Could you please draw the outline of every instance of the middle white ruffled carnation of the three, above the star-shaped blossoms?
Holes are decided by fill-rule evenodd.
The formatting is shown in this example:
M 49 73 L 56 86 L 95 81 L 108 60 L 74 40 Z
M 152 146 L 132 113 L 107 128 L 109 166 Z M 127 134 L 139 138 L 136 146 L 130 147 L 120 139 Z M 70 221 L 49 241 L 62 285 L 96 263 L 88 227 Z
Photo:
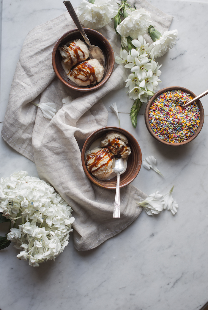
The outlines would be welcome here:
M 122 37 L 136 39 L 138 35 L 144 35 L 151 24 L 150 13 L 144 8 L 138 10 L 126 10 L 128 16 L 116 27 L 116 31 Z

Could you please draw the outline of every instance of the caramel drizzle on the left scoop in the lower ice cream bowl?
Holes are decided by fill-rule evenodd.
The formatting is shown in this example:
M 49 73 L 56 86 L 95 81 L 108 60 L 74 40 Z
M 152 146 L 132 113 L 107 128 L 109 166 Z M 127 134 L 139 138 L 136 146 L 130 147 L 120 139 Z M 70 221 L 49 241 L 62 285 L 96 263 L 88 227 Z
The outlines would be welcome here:
M 103 163 L 102 165 L 99 165 L 100 162 L 103 160 L 104 156 L 103 153 L 105 152 L 104 156 L 108 156 L 109 159 L 107 162 Z M 108 164 L 111 162 L 111 160 L 114 158 L 114 155 L 112 153 L 109 152 L 108 148 L 102 148 L 102 150 L 99 150 L 97 153 L 91 153 L 89 155 L 87 155 L 86 161 L 88 162 L 89 159 L 93 158 L 94 162 L 91 163 L 91 165 L 87 166 L 89 172 L 92 172 L 92 169 L 94 167 L 98 167 L 97 169 L 94 169 L 94 171 L 98 171 L 99 169 L 101 169 L 102 167 L 108 166 Z M 99 165 L 99 166 L 98 166 Z

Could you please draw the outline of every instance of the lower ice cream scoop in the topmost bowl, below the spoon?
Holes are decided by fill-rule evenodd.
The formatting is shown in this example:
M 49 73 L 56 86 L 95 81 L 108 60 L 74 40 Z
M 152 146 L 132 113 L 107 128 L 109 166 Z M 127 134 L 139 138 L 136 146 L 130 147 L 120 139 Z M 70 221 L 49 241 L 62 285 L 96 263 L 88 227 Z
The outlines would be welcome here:
M 103 66 L 97 59 L 86 60 L 78 64 L 69 74 L 69 79 L 79 86 L 89 86 L 102 80 Z

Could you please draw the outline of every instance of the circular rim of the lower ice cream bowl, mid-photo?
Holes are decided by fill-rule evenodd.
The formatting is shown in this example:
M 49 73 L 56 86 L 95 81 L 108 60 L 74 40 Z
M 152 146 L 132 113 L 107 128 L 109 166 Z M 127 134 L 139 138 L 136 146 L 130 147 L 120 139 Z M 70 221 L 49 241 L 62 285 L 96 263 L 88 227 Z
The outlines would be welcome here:
M 130 133 L 128 132 L 127 130 L 121 128 L 121 127 L 115 127 L 115 126 L 106 126 L 106 127 L 101 127 L 99 129 L 97 129 L 96 131 L 94 131 L 91 135 L 89 135 L 89 137 L 86 139 L 84 145 L 83 145 L 83 148 L 82 148 L 82 151 L 81 151 L 81 162 L 82 162 L 82 167 L 85 171 L 85 174 L 87 175 L 87 177 L 89 178 L 90 181 L 92 181 L 94 184 L 98 185 L 99 187 L 102 187 L 102 188 L 106 188 L 106 189 L 116 189 L 116 185 L 115 186 L 109 186 L 105 183 L 102 184 L 102 180 L 100 179 L 97 179 L 95 177 L 93 177 L 89 171 L 87 170 L 87 167 L 86 167 L 86 164 L 85 164 L 85 148 L 89 142 L 89 140 L 91 139 L 92 136 L 94 136 L 96 133 L 98 133 L 99 131 L 119 131 L 120 133 L 122 133 L 123 135 L 129 135 L 131 137 L 131 139 L 134 141 L 134 144 L 136 145 L 137 149 L 138 149 L 138 156 L 139 156 L 139 161 L 138 161 L 138 165 L 136 167 L 136 170 L 134 172 L 133 175 L 130 175 L 130 178 L 127 182 L 125 182 L 125 184 L 120 184 L 120 188 L 123 188 L 123 187 L 126 187 L 127 185 L 129 185 L 135 178 L 136 176 L 138 175 L 139 173 L 139 170 L 141 168 L 141 165 L 142 165 L 142 152 L 141 152 L 141 148 L 139 146 L 139 143 L 137 142 L 137 140 L 135 139 L 135 137 Z M 104 133 L 103 133 L 104 135 Z M 128 137 L 127 137 L 128 139 Z M 122 175 L 121 175 L 122 177 Z M 107 181 L 107 180 L 103 180 L 103 181 Z

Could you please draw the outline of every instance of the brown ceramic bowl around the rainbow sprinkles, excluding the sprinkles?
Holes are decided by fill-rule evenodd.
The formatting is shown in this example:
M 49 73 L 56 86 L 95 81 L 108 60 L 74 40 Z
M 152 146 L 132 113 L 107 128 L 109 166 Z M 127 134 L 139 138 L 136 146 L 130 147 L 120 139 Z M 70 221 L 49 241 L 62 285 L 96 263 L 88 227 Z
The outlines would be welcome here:
M 196 136 L 199 134 L 199 132 L 202 129 L 203 123 L 204 123 L 204 109 L 202 106 L 202 103 L 200 100 L 196 100 L 196 104 L 198 105 L 199 109 L 200 109 L 200 123 L 199 126 L 196 130 L 196 132 L 187 140 L 182 141 L 182 142 L 178 142 L 178 143 L 171 143 L 171 142 L 166 142 L 162 139 L 160 139 L 152 130 L 150 124 L 149 124 L 149 110 L 150 107 L 153 103 L 153 101 L 156 99 L 156 97 L 166 91 L 171 91 L 171 90 L 181 90 L 181 91 L 185 91 L 187 94 L 190 94 L 193 98 L 196 97 L 196 95 L 192 92 L 189 91 L 188 89 L 184 88 L 184 87 L 178 87 L 178 86 L 172 86 L 172 87 L 165 87 L 163 89 L 161 89 L 160 91 L 156 92 L 154 96 L 152 96 L 152 98 L 148 101 L 148 104 L 146 106 L 145 109 L 145 113 L 144 113 L 144 118 L 145 118 L 145 124 L 147 126 L 147 129 L 149 131 L 149 133 L 152 135 L 152 137 L 154 137 L 157 141 L 159 141 L 160 143 L 166 144 L 166 145 L 171 145 L 171 146 L 180 146 L 180 145 L 184 145 L 189 143 L 190 141 L 192 141 L 193 139 L 196 138 Z

